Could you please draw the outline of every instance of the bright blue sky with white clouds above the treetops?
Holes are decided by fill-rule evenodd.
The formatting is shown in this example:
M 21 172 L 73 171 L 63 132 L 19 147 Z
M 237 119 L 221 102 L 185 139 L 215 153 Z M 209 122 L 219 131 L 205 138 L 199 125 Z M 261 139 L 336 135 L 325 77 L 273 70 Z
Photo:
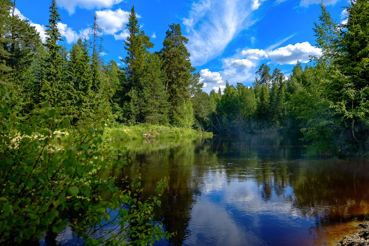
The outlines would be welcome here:
M 101 53 L 106 62 L 127 53 L 124 40 L 132 5 L 140 30 L 151 37 L 152 52 L 159 51 L 168 25 L 179 23 L 189 39 L 192 65 L 200 72 L 204 91 L 223 87 L 225 80 L 250 86 L 262 63 L 277 67 L 288 76 L 299 59 L 307 64 L 315 48 L 314 20 L 318 21 L 320 0 L 56 0 L 62 21 L 58 24 L 65 45 L 70 48 L 88 34 L 94 12 L 104 29 Z M 333 18 L 344 21 L 347 0 L 325 0 Z M 17 0 L 17 14 L 30 20 L 45 38 L 50 0 Z

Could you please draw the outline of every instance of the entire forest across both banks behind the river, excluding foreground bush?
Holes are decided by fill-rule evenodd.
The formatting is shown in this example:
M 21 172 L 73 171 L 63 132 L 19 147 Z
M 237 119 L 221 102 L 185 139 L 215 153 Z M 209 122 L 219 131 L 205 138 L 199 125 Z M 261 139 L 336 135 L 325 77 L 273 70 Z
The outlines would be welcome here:
M 314 32 L 322 56 L 311 57 L 305 67 L 297 61 L 288 79 L 262 64 L 252 87 L 226 82 L 224 91 L 210 94 L 202 90 L 179 24 L 169 25 L 161 51 L 149 52 L 154 44 L 132 7 L 121 68 L 99 56 L 104 49 L 96 14 L 89 39 L 68 51 L 58 44 L 55 0 L 44 44 L 27 20 L 14 15 L 11 1 L 0 4 L 0 83 L 27 98 L 22 115 L 48 101 L 63 109 L 60 121 L 73 125 L 93 117 L 93 107 L 113 89 L 110 111 L 117 117 L 111 127 L 148 123 L 227 135 L 284 131 L 302 134 L 311 154 L 369 156 L 368 1 L 351 1 L 345 24 L 321 4 Z

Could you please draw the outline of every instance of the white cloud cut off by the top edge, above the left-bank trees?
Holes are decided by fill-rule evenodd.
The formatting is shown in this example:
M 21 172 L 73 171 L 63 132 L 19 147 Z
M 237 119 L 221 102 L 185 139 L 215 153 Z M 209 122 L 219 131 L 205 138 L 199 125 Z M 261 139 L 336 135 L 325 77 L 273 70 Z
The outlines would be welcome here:
M 58 6 L 64 8 L 69 14 L 73 14 L 76 7 L 86 9 L 111 8 L 114 4 L 118 4 L 124 0 L 56 0 Z

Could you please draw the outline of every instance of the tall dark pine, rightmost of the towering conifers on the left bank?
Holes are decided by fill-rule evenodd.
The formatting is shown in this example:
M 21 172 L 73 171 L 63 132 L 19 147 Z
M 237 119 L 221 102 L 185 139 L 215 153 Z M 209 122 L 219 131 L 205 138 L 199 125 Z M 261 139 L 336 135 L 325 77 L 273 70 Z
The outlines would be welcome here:
M 183 116 L 180 105 L 190 97 L 188 86 L 194 68 L 190 62 L 190 53 L 185 46 L 187 42 L 188 39 L 182 36 L 179 24 L 169 25 L 161 55 L 164 62 L 163 70 L 166 73 L 165 91 L 169 93 L 170 119 L 173 124 L 176 124 L 175 118 Z

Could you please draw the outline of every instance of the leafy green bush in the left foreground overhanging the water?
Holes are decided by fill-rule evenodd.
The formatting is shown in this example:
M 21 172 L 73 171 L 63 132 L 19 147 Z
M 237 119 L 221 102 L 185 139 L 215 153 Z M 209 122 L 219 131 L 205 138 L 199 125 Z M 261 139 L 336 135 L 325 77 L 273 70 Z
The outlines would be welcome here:
M 106 116 L 108 107 L 96 106 L 93 119 L 70 127 L 66 120 L 55 124 L 63 112 L 47 102 L 24 116 L 17 113 L 22 98 L 10 96 L 6 87 L 0 95 L 0 243 L 26 244 L 46 231 L 61 232 L 68 223 L 86 245 L 152 245 L 168 236 L 152 222 L 158 198 L 138 199 L 139 175 L 121 189 L 115 177 L 99 176 L 127 164 L 124 153 L 102 137 L 107 119 L 113 120 Z M 60 143 L 61 132 L 70 141 L 57 148 L 51 142 Z M 158 196 L 164 187 L 165 180 L 160 181 Z M 75 212 L 67 218 L 68 211 Z M 120 229 L 104 231 L 102 225 L 110 223 Z M 97 230 L 102 236 L 94 237 Z

